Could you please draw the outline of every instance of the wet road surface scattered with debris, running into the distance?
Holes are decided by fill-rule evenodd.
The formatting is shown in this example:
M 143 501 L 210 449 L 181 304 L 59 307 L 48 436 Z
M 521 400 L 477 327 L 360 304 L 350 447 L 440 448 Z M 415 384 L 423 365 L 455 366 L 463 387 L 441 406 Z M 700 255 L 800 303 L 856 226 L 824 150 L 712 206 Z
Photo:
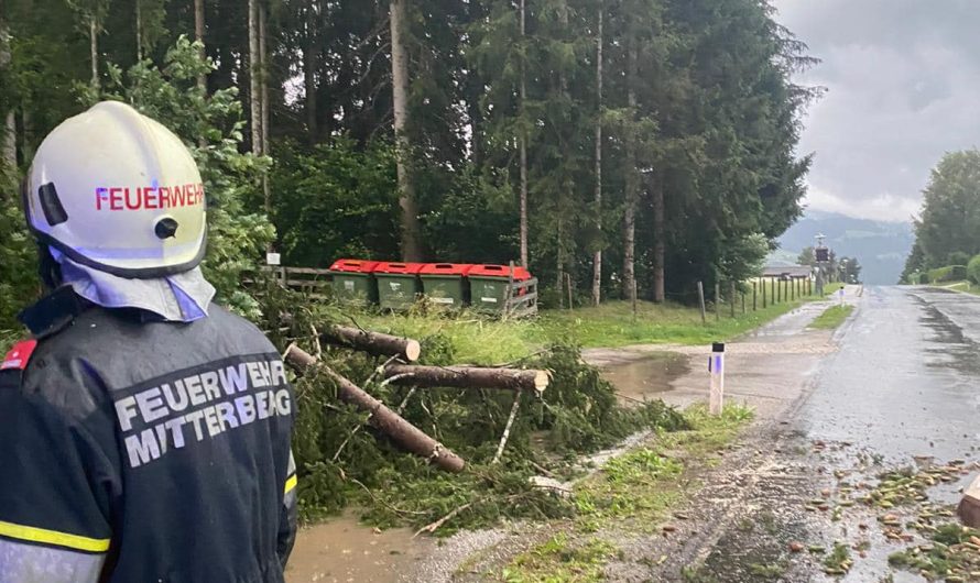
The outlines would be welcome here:
M 751 363 L 748 355 L 741 360 L 749 372 L 734 385 L 762 405 L 760 422 L 705 477 L 678 535 L 638 541 L 610 568 L 609 579 L 925 581 L 888 563 L 891 553 L 923 539 L 891 540 L 879 522 L 885 510 L 858 504 L 837 512 L 834 501 L 852 497 L 848 487 L 854 484 L 873 487 L 885 471 L 978 460 L 980 297 L 926 287 L 868 288 L 861 297 L 853 292 L 848 301 L 857 309 L 832 337 L 801 331 L 819 311 L 810 309 L 736 348 L 756 355 Z M 783 348 L 765 352 L 760 342 Z M 808 354 L 793 348 L 801 343 L 821 348 Z M 777 370 L 766 372 L 770 366 Z M 780 383 L 782 394 L 773 388 Z M 666 399 L 683 404 L 688 393 L 704 398 L 704 372 L 692 372 Z M 971 477 L 933 488 L 929 503 L 955 503 Z M 829 508 L 814 507 L 821 497 Z M 854 565 L 842 576 L 826 574 L 827 554 L 792 552 L 795 542 L 828 550 L 847 544 Z

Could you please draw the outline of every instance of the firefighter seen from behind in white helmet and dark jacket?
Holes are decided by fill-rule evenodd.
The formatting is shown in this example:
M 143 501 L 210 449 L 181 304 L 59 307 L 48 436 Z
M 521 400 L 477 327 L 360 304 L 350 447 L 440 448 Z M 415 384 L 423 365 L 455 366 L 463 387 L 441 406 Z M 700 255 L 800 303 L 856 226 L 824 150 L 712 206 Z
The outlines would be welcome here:
M 279 353 L 211 301 L 200 174 L 120 102 L 22 187 L 50 292 L 0 364 L 0 583 L 280 583 L 296 525 Z

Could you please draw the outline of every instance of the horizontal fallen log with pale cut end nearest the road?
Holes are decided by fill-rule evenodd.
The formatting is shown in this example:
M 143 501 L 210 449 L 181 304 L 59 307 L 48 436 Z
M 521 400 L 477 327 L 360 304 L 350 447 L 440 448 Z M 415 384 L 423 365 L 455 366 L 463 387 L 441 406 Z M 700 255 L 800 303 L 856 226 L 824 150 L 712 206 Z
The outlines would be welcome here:
M 499 388 L 541 393 L 548 386 L 544 371 L 479 369 L 476 366 L 413 366 L 389 364 L 384 377 L 395 385 L 454 388 Z

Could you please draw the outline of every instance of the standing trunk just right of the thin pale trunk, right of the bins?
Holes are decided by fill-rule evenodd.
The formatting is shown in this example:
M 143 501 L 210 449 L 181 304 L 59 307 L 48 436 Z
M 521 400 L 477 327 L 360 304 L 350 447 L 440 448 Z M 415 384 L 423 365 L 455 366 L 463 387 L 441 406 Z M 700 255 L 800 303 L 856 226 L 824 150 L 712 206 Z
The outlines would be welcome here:
M 630 108 L 629 117 L 635 116 L 636 109 L 636 42 L 629 41 L 627 51 L 627 103 Z M 627 176 L 625 176 L 625 209 L 623 211 L 623 296 L 628 298 L 636 309 L 636 205 L 640 198 L 640 177 L 636 168 L 636 135 L 632 123 L 628 122 L 625 129 L 627 146 Z

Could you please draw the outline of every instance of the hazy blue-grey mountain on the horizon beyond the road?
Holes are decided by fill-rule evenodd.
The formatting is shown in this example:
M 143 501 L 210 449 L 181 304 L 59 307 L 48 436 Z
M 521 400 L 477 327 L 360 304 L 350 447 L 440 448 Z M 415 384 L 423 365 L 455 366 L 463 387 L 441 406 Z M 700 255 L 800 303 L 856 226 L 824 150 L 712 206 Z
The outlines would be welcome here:
M 771 258 L 784 261 L 812 246 L 817 233 L 827 235 L 827 246 L 838 257 L 858 257 L 865 284 L 891 285 L 899 280 L 905 257 L 915 242 L 912 224 L 853 219 L 843 215 L 807 211 L 778 239 L 780 250 Z

